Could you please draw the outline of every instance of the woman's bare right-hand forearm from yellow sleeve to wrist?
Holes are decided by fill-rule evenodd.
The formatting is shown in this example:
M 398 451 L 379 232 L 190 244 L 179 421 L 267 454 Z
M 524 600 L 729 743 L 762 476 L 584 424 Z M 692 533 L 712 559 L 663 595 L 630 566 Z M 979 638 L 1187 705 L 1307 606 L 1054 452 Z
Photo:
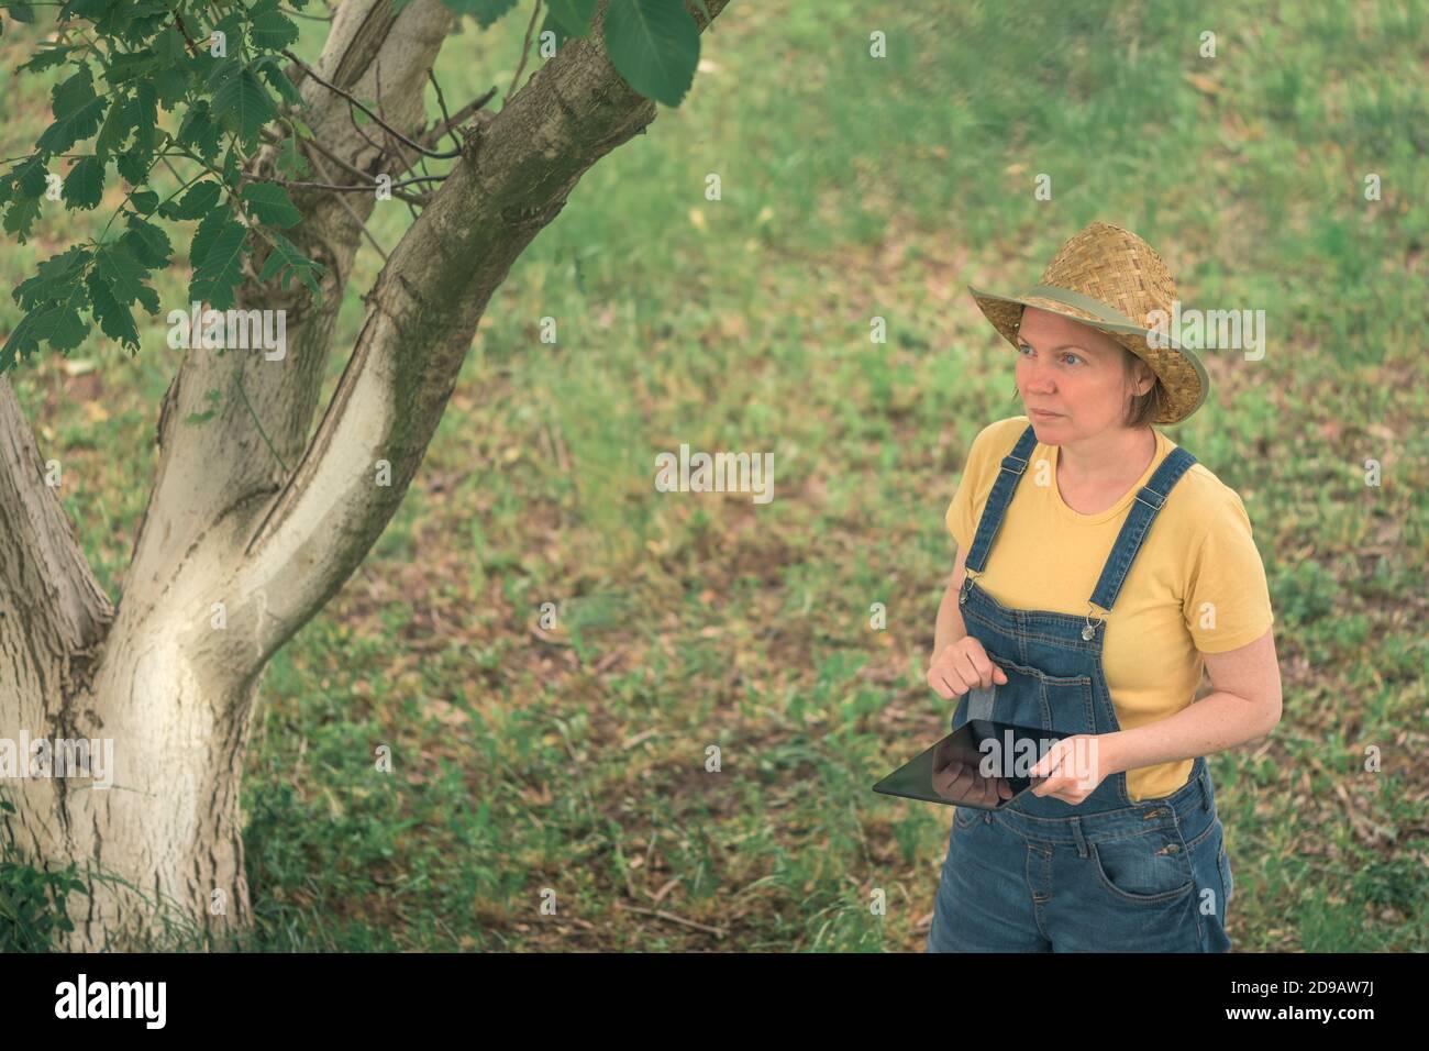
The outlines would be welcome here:
M 1280 721 L 1280 665 L 1273 629 L 1239 649 L 1202 656 L 1215 692 L 1167 719 L 1100 735 L 1103 776 L 1223 752 L 1275 729 Z

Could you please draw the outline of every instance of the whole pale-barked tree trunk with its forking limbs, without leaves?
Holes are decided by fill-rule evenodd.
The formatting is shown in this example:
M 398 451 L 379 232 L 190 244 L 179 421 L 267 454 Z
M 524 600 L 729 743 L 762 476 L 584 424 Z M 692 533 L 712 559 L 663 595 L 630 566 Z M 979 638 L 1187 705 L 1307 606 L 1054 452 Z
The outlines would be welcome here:
M 707 0 L 710 16 L 726 3 Z M 703 30 L 699 6 L 687 9 Z M 154 489 L 117 613 L 0 380 L 0 738 L 23 729 L 114 742 L 113 788 L 60 778 L 4 785 L 17 811 L 9 838 L 49 868 L 74 862 L 89 875 L 90 895 L 70 899 L 70 948 L 137 945 L 166 924 L 249 922 L 239 789 L 267 661 L 342 588 L 396 512 L 512 262 L 580 176 L 654 119 L 654 103 L 610 66 L 603 16 L 604 3 L 590 39 L 563 46 L 499 114 L 476 114 L 450 176 L 363 297 L 356 346 L 310 442 L 360 229 L 337 194 L 296 200 L 304 222 L 293 239 L 329 267 L 323 305 L 250 280 L 239 306 L 289 309 L 286 359 L 187 353 L 160 410 Z M 387 122 L 417 137 L 450 23 L 437 0 L 397 16 L 389 0 L 347 0 L 316 69 L 380 99 Z M 329 152 L 400 174 L 344 102 L 313 79 L 302 92 Z M 374 199 L 346 197 L 366 219 Z M 220 410 L 203 428 L 180 428 L 209 408 L 209 389 L 223 393 Z

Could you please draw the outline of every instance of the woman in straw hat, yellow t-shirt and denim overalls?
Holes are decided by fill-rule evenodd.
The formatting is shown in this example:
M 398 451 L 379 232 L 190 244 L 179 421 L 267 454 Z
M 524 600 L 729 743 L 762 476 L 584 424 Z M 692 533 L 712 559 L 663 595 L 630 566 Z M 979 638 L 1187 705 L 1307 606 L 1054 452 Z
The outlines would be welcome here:
M 1140 237 L 1092 223 L 1029 293 L 969 290 L 1017 347 L 1027 416 L 977 435 L 947 509 L 959 555 L 927 684 L 960 698 L 955 726 L 1066 736 L 1030 791 L 955 811 L 927 948 L 1225 952 L 1203 756 L 1279 722 L 1280 675 L 1240 498 L 1152 428 L 1209 389 L 1147 327 L 1175 282 Z M 1202 666 L 1213 692 L 1192 704 Z M 969 711 L 973 688 L 990 709 Z

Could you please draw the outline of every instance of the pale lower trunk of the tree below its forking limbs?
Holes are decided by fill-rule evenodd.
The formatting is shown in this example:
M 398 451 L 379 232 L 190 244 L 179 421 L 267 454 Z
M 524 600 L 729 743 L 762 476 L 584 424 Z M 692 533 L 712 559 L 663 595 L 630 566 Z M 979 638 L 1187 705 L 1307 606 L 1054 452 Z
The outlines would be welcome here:
M 44 736 L 54 759 L 59 741 L 99 742 L 90 778 L 6 782 L 11 844 L 46 868 L 77 864 L 90 887 L 69 902 L 67 948 L 137 948 L 166 928 L 246 924 L 239 789 L 256 682 L 196 661 L 194 621 L 177 608 L 141 623 L 120 616 L 86 684 L 34 676 L 16 643 L 40 639 L 19 626 L 0 635 L 0 738 Z

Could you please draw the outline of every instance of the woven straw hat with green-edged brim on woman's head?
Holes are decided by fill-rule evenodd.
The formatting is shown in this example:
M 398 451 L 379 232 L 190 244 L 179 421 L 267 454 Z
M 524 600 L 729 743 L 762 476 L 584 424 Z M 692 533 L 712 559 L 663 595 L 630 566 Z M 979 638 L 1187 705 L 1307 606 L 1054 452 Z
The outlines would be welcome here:
M 1130 230 L 1102 222 L 1085 226 L 1057 250 L 1037 285 L 1020 296 L 999 296 L 970 285 L 967 290 L 1015 347 L 1025 306 L 1109 335 L 1160 379 L 1166 406 L 1153 423 L 1180 423 L 1206 400 L 1210 390 L 1206 366 L 1179 346 L 1169 330 L 1176 282 L 1156 250 Z M 1165 312 L 1167 323 L 1162 333 L 1147 327 L 1152 310 Z M 1167 346 L 1149 343 L 1150 335 L 1159 335 L 1159 342 Z

